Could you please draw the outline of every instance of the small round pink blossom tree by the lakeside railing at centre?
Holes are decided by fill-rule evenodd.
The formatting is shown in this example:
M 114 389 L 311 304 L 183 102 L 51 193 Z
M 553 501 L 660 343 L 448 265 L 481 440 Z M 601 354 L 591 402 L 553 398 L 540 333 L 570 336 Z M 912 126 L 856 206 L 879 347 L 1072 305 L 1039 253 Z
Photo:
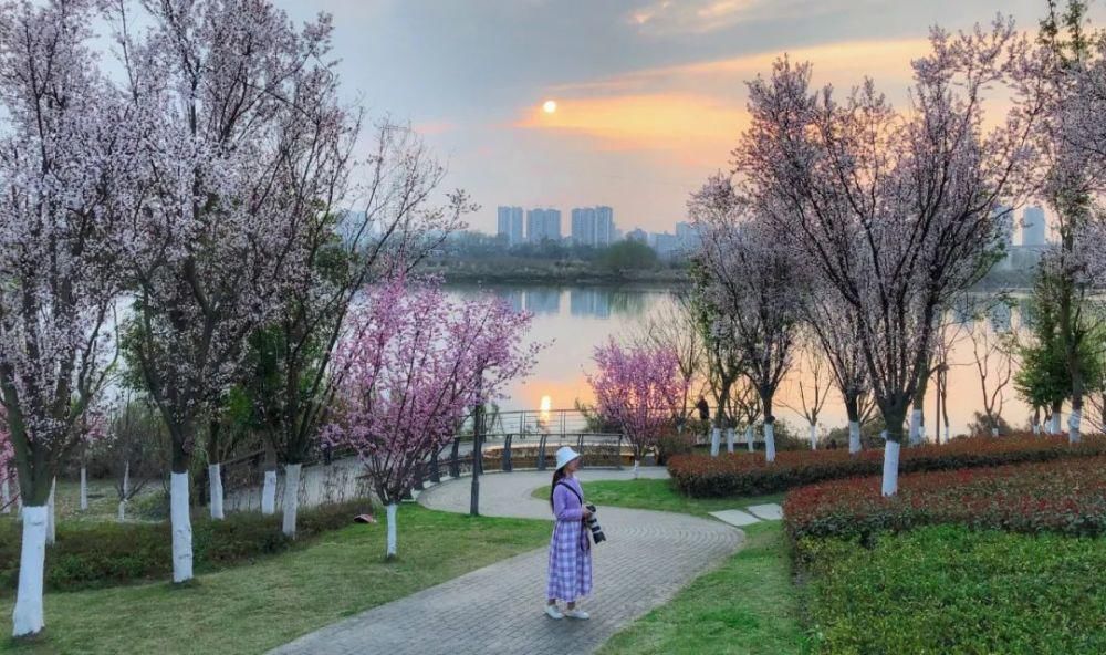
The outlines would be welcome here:
M 680 374 L 671 347 L 623 347 L 611 340 L 595 349 L 596 372 L 587 375 L 596 409 L 626 434 L 634 448 L 634 478 L 641 457 L 668 430 L 675 429 L 688 381 Z

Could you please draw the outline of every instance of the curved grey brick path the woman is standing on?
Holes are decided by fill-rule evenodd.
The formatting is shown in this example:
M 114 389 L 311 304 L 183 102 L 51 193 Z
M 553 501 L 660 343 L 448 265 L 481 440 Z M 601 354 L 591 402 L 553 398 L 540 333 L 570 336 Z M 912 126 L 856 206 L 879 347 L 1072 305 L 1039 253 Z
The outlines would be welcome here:
M 643 477 L 667 477 L 645 469 Z M 531 496 L 547 472 L 480 478 L 481 513 L 550 519 Z M 629 479 L 629 471 L 588 470 L 588 480 Z M 470 478 L 424 491 L 431 509 L 466 512 Z M 543 612 L 546 550 L 515 555 L 444 584 L 310 633 L 273 653 L 477 655 L 591 653 L 619 628 L 669 601 L 692 578 L 733 553 L 743 533 L 726 523 L 648 510 L 602 507 L 607 541 L 594 554 L 595 592 L 581 603 L 591 621 L 553 621 Z M 400 538 L 403 536 L 400 534 Z

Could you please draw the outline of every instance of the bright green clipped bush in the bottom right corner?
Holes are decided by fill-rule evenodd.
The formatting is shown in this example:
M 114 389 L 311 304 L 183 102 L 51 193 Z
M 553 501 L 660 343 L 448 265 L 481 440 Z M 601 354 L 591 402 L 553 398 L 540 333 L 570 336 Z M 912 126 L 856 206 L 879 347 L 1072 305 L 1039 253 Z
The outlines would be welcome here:
M 963 527 L 814 540 L 821 653 L 1106 653 L 1106 542 Z

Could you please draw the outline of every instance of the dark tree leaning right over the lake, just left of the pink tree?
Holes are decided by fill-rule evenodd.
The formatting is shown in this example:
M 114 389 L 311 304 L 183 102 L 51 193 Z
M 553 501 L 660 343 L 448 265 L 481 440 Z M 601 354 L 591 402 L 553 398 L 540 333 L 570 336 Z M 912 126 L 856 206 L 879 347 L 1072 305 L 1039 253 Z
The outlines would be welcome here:
M 338 156 L 348 159 L 348 149 Z M 284 465 L 283 530 L 290 537 L 300 468 L 343 376 L 331 360 L 351 303 L 366 283 L 414 267 L 476 209 L 461 191 L 444 204 L 432 199 L 446 169 L 405 125 L 382 122 L 368 160 L 356 168 L 340 164 L 337 171 L 364 181 L 347 188 L 345 177 L 337 177 L 327 189 L 326 210 L 307 218 L 303 245 L 291 253 L 298 275 L 285 280 L 273 318 L 250 336 L 246 363 L 244 388 L 257 424 Z M 335 209 L 354 195 L 358 210 Z M 275 487 L 273 466 L 262 489 L 265 513 L 275 511 Z

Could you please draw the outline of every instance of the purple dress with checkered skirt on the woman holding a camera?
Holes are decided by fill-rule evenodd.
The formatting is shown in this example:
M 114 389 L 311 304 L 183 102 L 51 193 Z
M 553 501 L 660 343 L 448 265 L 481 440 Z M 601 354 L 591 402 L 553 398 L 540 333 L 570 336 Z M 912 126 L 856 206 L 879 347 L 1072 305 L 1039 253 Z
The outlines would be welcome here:
M 592 593 L 592 544 L 584 529 L 584 508 L 571 485 L 584 497 L 574 477 L 564 478 L 553 490 L 553 539 L 550 540 L 550 575 L 545 597 L 568 603 Z

